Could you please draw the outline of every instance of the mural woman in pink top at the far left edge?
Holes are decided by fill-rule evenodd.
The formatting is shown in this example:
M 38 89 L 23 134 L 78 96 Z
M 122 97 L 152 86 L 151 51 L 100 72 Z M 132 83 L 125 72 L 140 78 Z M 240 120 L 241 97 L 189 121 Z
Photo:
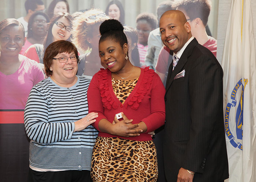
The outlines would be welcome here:
M 18 20 L 0 22 L 0 109 L 24 109 L 30 89 L 44 79 L 34 60 L 19 52 L 26 41 L 25 30 Z

